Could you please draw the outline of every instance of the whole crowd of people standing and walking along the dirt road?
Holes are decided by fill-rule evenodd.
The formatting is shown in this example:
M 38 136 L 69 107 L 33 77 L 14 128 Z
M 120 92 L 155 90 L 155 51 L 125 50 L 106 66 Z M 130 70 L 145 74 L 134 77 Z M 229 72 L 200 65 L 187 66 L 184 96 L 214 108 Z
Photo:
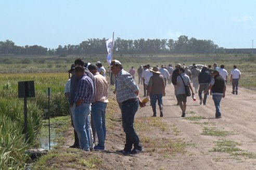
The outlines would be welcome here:
M 129 72 L 123 69 L 118 60 L 110 64 L 110 84 L 115 85 L 113 91 L 121 110 L 122 126 L 125 133 L 123 154 L 136 154 L 143 151 L 133 123 L 138 107 L 145 107 L 146 103 L 140 100 L 139 88 L 135 82 L 136 70 L 132 66 Z M 84 63 L 76 59 L 68 71 L 72 76 L 67 81 L 65 96 L 68 98 L 71 110 L 71 122 L 74 127 L 74 144 L 70 148 L 81 148 L 85 151 L 105 150 L 106 139 L 106 108 L 108 104 L 109 84 L 106 78 L 106 69 L 101 62 Z M 143 84 L 144 97 L 150 98 L 153 115 L 157 116 L 158 102 L 160 117 L 163 117 L 163 100 L 168 84 L 173 84 L 177 105 L 181 107 L 182 117 L 186 116 L 187 92 L 190 89 L 192 96 L 198 93 L 200 105 L 207 105 L 207 96 L 212 95 L 216 108 L 215 118 L 221 118 L 220 102 L 225 97 L 228 73 L 217 63 L 203 65 L 201 70 L 194 63 L 191 68 L 175 64 L 166 67 L 161 64 L 150 67 L 139 65 L 137 69 L 138 84 Z M 238 95 L 238 83 L 241 73 L 234 65 L 231 71 L 232 94 Z M 190 80 L 193 82 L 191 86 Z M 202 96 L 203 94 L 203 96 Z M 97 134 L 97 135 L 96 135 Z M 96 143 L 96 136 L 98 144 Z

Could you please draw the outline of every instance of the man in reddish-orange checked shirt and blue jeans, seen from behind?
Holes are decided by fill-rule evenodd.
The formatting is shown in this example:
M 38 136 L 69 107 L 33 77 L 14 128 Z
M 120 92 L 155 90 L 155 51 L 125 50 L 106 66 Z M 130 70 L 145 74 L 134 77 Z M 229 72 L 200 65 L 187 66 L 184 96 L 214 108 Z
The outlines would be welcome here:
M 88 66 L 89 71 L 94 75 L 96 93 L 92 102 L 92 117 L 98 136 L 98 145 L 95 150 L 105 150 L 106 139 L 106 108 L 108 104 L 108 81 L 97 72 L 98 67 L 94 64 Z

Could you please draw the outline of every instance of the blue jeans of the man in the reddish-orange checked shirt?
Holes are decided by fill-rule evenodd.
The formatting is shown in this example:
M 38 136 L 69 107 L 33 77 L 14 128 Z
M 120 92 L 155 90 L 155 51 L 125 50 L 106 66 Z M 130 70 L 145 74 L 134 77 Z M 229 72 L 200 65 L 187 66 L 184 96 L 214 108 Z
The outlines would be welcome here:
M 106 139 L 106 108 L 108 103 L 96 102 L 92 104 L 92 116 L 100 146 L 105 146 Z

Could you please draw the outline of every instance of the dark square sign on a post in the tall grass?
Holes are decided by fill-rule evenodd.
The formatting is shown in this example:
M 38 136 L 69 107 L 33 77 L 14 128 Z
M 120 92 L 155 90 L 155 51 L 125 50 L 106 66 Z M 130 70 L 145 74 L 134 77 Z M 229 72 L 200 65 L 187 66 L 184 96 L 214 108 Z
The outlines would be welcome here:
M 22 131 L 25 134 L 26 140 L 28 140 L 28 107 L 27 98 L 35 97 L 34 81 L 19 81 L 18 82 L 18 97 L 24 98 L 24 129 Z

